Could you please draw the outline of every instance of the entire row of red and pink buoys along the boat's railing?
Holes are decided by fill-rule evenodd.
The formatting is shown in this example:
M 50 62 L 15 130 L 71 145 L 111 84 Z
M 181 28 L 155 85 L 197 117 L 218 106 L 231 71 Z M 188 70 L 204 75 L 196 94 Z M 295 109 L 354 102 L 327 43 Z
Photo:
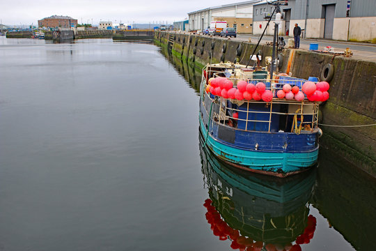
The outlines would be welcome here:
M 305 96 L 310 101 L 326 101 L 329 98 L 328 82 L 304 82 L 301 91 L 298 86 L 284 84 L 282 89 L 276 92 L 278 98 L 286 100 L 304 100 Z M 233 86 L 233 82 L 226 77 L 212 77 L 206 86 L 206 92 L 212 93 L 214 96 L 230 98 L 236 100 L 263 100 L 270 102 L 273 99 L 273 93 L 266 89 L 263 82 L 251 84 L 244 80 L 237 82 L 237 88 Z M 305 94 L 305 96 L 304 96 Z

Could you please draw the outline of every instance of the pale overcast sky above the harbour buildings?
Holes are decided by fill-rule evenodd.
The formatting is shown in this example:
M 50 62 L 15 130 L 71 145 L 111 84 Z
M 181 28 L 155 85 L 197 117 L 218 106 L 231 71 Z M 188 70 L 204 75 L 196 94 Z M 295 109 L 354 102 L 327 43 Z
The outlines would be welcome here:
M 146 23 L 181 21 L 187 13 L 238 3 L 236 0 L 13 0 L 0 7 L 3 24 L 38 24 L 38 20 L 52 15 L 68 15 L 81 24 L 102 21 Z

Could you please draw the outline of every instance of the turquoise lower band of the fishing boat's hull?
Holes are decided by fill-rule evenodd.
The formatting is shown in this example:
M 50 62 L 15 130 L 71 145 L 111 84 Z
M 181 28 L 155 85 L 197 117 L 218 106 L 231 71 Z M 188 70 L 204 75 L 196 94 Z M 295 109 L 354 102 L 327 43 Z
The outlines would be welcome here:
M 200 128 L 205 141 L 207 130 L 201 116 Z M 206 144 L 214 155 L 230 165 L 272 176 L 284 177 L 303 172 L 318 160 L 318 146 L 304 152 L 258 151 L 233 146 L 215 139 L 210 134 Z

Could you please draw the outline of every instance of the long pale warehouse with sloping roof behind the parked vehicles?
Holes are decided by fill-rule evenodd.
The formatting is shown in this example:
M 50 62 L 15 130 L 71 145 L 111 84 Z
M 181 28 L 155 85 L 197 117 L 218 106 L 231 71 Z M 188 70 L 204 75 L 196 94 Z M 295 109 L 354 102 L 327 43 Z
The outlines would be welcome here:
M 237 33 L 252 33 L 253 4 L 260 0 L 243 1 L 223 6 L 205 8 L 188 13 L 189 30 L 203 30 L 210 26 L 214 20 L 227 22 L 228 27 L 233 27 Z

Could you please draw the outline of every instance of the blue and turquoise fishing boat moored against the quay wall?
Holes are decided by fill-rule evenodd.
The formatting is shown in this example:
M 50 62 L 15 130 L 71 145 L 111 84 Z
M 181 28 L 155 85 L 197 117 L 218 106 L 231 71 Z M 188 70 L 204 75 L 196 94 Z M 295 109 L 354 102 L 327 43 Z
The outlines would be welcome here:
M 199 121 L 204 144 L 217 158 L 251 172 L 285 177 L 318 160 L 318 111 L 329 98 L 329 84 L 278 73 L 276 40 L 274 33 L 269 71 L 230 62 L 203 68 Z

